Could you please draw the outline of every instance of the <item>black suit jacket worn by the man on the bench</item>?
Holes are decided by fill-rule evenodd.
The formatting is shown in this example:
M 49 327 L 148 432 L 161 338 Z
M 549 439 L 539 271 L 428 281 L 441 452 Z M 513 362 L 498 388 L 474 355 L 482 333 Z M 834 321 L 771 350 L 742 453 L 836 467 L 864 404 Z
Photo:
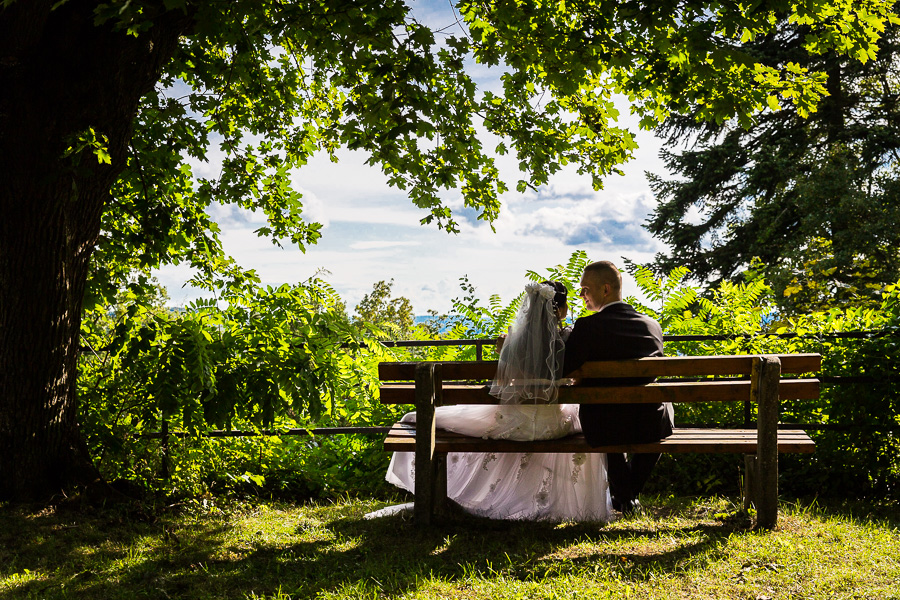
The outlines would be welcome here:
M 575 322 L 566 340 L 563 373 L 592 360 L 662 356 L 659 323 L 629 304 L 613 304 Z M 592 385 L 616 385 L 624 380 L 585 380 Z M 639 382 L 633 382 L 639 383 Z M 662 404 L 582 404 L 584 437 L 592 446 L 655 442 L 672 434 L 671 417 Z

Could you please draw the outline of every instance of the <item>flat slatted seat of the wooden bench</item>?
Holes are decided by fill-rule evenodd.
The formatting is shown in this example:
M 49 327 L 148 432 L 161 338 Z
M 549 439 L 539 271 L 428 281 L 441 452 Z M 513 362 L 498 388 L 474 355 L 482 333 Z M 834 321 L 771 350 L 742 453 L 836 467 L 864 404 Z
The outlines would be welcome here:
M 396 423 L 384 441 L 395 452 L 415 451 L 415 425 Z M 802 430 L 779 430 L 778 451 L 812 453 L 815 443 Z M 592 448 L 581 434 L 555 440 L 516 442 L 486 440 L 438 430 L 435 452 L 664 452 L 664 453 L 756 453 L 755 429 L 676 429 L 668 438 L 652 444 L 621 444 Z

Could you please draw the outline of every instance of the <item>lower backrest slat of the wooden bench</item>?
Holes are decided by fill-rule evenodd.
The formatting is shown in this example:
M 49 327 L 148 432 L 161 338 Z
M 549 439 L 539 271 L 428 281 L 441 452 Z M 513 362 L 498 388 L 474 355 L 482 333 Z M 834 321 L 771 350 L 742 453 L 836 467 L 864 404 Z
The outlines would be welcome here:
M 819 397 L 818 379 L 785 379 L 778 390 L 783 399 Z M 750 398 L 750 381 L 665 381 L 638 386 L 561 387 L 559 401 L 567 404 L 633 404 L 639 402 L 741 402 Z M 381 386 L 384 404 L 414 404 L 415 385 L 395 383 Z M 496 404 L 489 386 L 445 383 L 444 404 Z

